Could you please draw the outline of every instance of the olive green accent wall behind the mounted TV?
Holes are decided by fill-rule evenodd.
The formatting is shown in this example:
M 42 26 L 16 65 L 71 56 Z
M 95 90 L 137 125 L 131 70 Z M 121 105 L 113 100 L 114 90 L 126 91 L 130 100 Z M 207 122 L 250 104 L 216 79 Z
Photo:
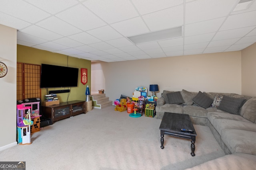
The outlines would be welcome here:
M 78 72 L 78 87 L 72 87 L 70 95 L 68 93 L 57 94 L 60 102 L 72 101 L 72 100 L 86 100 L 86 86 L 91 87 L 91 61 L 85 59 L 79 59 L 76 57 L 70 57 L 58 53 L 52 53 L 32 47 L 26 47 L 23 45 L 17 45 L 17 62 L 28 64 L 52 64 L 57 66 L 68 66 L 79 68 Z M 87 68 L 87 83 L 83 85 L 81 83 L 81 68 Z M 54 70 L 53 70 L 54 71 Z M 68 81 L 68 80 L 67 80 Z M 48 90 L 66 90 L 70 88 L 48 88 Z M 47 94 L 46 88 L 41 89 L 42 100 L 44 95 Z

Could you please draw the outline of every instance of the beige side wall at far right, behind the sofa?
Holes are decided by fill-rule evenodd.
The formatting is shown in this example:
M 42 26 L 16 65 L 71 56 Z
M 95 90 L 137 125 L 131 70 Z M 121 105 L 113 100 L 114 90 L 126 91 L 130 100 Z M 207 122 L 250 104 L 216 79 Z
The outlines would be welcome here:
M 242 50 L 242 94 L 256 96 L 256 43 Z

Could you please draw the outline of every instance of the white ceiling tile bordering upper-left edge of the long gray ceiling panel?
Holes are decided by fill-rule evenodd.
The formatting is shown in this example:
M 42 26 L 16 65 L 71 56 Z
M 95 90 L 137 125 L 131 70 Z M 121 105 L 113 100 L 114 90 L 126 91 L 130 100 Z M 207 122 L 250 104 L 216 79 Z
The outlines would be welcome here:
M 148 28 L 140 17 L 113 23 L 111 26 L 124 36 L 138 35 L 149 32 Z

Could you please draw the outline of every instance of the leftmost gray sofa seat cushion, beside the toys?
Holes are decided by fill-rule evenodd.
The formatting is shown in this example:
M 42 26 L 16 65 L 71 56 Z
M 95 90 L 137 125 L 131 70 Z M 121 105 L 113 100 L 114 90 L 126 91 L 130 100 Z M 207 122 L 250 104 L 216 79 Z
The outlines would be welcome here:
M 164 104 L 163 106 L 156 106 L 156 112 L 183 113 L 183 105 L 182 104 Z

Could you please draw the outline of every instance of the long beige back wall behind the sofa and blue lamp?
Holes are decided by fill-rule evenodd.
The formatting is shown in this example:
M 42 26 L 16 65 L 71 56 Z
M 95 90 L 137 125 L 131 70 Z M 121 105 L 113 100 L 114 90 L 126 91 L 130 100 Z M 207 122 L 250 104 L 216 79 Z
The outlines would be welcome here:
M 98 68 L 102 68 L 103 78 L 98 79 L 97 84 L 105 84 L 106 96 L 112 101 L 121 94 L 131 97 L 138 86 L 148 88 L 148 94 L 152 95 L 150 84 L 158 84 L 157 97 L 163 90 L 182 89 L 241 94 L 241 51 L 101 62 L 100 65 Z M 92 79 L 95 76 L 92 74 Z

